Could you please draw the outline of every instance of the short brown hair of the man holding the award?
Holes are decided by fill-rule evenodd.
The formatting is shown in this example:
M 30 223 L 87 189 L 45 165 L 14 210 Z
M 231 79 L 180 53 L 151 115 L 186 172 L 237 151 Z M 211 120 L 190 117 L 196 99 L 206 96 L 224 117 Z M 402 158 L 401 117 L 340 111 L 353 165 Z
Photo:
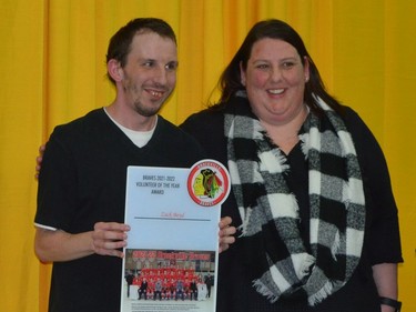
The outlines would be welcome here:
M 171 39 L 177 44 L 173 29 L 164 20 L 155 18 L 139 18 L 131 20 L 128 24 L 119 29 L 119 31 L 110 39 L 106 51 L 106 62 L 114 59 L 120 62 L 121 67 L 124 67 L 128 61 L 133 38 L 140 31 L 155 32 L 163 38 Z M 109 78 L 114 82 L 110 76 Z

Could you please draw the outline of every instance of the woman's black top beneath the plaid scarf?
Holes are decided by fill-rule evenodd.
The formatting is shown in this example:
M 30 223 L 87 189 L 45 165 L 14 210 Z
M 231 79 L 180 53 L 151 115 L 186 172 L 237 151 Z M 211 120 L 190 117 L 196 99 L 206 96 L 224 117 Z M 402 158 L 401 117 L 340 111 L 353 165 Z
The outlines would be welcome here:
M 207 157 L 227 165 L 224 114 L 234 105 L 245 104 L 232 100 L 227 107 L 204 110 L 191 115 L 181 128 L 194 135 L 204 147 Z M 381 305 L 372 274 L 372 265 L 402 262 L 397 209 L 392 193 L 387 165 L 383 152 L 369 129 L 349 108 L 345 108 L 345 123 L 352 133 L 362 168 L 365 199 L 366 229 L 361 263 L 347 284 L 339 291 L 310 308 L 303 302 L 280 300 L 270 303 L 252 286 L 251 268 L 244 262 L 244 238 L 220 255 L 219 298 L 220 312 L 379 312 Z M 302 235 L 308 245 L 308 169 L 297 144 L 287 155 L 291 167 L 287 184 L 300 204 Z M 230 215 L 233 225 L 241 217 L 233 193 L 222 207 L 222 215 Z

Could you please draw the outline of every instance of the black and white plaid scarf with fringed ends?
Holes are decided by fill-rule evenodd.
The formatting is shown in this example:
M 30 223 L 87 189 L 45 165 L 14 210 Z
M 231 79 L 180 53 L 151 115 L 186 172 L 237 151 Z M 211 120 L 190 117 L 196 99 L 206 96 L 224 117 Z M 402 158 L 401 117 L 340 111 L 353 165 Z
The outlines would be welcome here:
M 358 264 L 365 225 L 361 169 L 343 120 L 318 99 L 300 140 L 308 162 L 310 244 L 301 239 L 298 205 L 284 174 L 285 155 L 271 142 L 246 99 L 225 114 L 229 170 L 256 272 L 253 286 L 273 303 L 304 298 L 315 305 L 339 290 Z

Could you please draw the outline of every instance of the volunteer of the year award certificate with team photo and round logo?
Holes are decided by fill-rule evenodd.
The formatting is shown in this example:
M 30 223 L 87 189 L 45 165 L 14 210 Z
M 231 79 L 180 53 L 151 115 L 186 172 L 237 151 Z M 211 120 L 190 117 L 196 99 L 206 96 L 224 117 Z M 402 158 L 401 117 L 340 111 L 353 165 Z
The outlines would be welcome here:
M 226 169 L 129 167 L 122 312 L 215 311 L 221 203 Z

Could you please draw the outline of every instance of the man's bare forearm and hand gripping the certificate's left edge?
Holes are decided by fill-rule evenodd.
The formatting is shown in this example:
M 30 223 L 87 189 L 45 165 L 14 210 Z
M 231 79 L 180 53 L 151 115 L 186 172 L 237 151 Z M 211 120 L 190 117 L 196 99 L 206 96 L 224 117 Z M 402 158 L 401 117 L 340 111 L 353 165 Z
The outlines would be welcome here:
M 37 228 L 34 251 L 42 262 L 71 261 L 93 253 L 123 258 L 119 249 L 126 245 L 129 230 L 129 225 L 115 222 L 98 222 L 93 231 L 79 234 Z

